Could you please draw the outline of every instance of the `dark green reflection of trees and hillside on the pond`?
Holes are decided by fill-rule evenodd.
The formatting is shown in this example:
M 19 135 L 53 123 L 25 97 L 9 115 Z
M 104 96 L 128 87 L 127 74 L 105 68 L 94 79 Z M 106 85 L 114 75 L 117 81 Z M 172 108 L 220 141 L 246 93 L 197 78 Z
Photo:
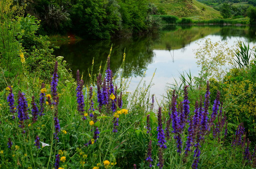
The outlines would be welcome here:
M 115 73 L 126 53 L 125 77 L 141 76 L 147 70 L 148 64 L 153 63 L 155 56 L 153 50 L 186 50 L 191 42 L 204 38 L 207 35 L 220 35 L 221 39 L 231 37 L 245 37 L 247 42 L 256 42 L 256 28 L 248 26 L 176 26 L 165 25 L 157 34 L 137 38 L 112 40 L 83 40 L 75 44 L 66 44 L 54 51 L 56 56 L 64 56 L 69 63 L 74 77 L 76 70 L 84 73 L 88 79 L 88 69 L 91 69 L 94 58 L 93 73 L 99 72 L 100 64 L 105 65 L 110 47 L 113 46 L 111 56 L 111 69 Z

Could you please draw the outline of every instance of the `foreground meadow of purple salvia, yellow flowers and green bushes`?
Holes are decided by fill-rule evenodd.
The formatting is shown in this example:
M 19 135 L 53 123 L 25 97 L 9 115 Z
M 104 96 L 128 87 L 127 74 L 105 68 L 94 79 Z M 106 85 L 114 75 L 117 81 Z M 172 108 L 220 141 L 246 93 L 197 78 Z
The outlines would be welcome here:
M 0 168 L 256 167 L 255 48 L 206 39 L 198 77 L 156 100 L 144 75 L 126 92 L 126 54 L 113 74 L 112 47 L 88 82 L 73 78 L 38 21 L 2 2 Z

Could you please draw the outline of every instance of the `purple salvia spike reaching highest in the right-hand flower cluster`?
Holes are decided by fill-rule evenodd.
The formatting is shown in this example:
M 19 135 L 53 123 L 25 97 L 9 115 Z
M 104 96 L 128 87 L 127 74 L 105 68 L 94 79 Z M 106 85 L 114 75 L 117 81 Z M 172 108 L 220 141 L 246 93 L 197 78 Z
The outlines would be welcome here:
M 206 135 L 206 132 L 208 131 L 208 108 L 210 105 L 210 84 L 209 81 L 207 81 L 207 88 L 206 88 L 206 95 L 204 100 L 204 111 L 202 113 L 202 119 L 201 119 L 201 130 L 202 135 Z

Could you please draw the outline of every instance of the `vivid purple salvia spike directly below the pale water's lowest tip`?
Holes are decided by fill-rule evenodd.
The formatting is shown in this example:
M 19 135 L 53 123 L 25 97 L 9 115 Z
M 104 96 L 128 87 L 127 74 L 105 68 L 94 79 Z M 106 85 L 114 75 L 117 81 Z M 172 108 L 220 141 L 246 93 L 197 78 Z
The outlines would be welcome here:
M 163 130 L 163 124 L 162 124 L 162 113 L 161 113 L 161 107 L 159 107 L 157 117 L 158 117 L 158 126 L 157 126 L 157 140 L 160 148 L 167 148 L 167 146 L 164 144 L 166 143 L 165 136 L 164 136 L 164 130 Z

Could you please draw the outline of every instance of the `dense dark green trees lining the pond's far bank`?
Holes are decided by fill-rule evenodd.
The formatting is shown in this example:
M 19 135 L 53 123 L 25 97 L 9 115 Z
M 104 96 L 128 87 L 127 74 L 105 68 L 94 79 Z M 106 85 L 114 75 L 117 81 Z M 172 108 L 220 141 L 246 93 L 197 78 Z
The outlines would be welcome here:
M 75 32 L 92 38 L 133 34 L 157 26 L 158 9 L 149 0 L 34 0 L 27 14 L 41 20 L 47 33 Z

